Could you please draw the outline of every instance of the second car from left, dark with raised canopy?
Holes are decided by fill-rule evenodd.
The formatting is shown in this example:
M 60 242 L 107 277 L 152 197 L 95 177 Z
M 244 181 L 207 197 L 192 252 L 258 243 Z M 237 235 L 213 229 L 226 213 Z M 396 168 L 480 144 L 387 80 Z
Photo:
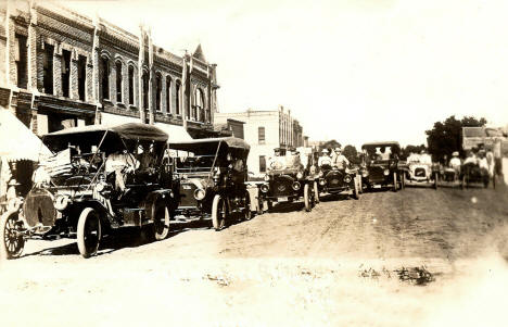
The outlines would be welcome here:
M 250 146 L 234 137 L 195 139 L 170 143 L 174 164 L 175 214 L 185 219 L 212 218 L 215 230 L 234 216 L 250 219 L 246 188 Z

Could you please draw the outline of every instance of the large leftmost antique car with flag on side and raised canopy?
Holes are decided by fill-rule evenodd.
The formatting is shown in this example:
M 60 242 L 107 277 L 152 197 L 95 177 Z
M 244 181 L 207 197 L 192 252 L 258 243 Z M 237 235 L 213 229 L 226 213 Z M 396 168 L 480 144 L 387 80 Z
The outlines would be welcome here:
M 89 257 L 103 235 L 127 226 L 165 238 L 175 205 L 169 166 L 162 164 L 167 138 L 138 123 L 46 135 L 53 155 L 34 172 L 22 205 L 2 215 L 0 254 L 20 256 L 30 238 L 75 236 L 79 253 Z

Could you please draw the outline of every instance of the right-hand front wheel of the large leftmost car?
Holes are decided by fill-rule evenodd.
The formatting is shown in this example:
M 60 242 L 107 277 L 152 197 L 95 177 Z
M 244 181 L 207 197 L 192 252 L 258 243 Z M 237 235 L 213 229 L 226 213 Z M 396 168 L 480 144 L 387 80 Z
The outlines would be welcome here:
M 91 207 L 85 207 L 79 215 L 77 226 L 77 242 L 82 257 L 90 257 L 99 250 L 102 238 L 101 218 Z

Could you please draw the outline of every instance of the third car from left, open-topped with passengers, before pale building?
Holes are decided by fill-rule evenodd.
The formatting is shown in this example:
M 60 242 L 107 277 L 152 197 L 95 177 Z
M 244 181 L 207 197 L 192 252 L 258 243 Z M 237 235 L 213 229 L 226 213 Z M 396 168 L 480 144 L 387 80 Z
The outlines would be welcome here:
M 265 183 L 259 184 L 259 206 L 267 201 L 268 210 L 274 202 L 294 202 L 303 199 L 305 211 L 313 210 L 316 201 L 317 181 L 300 161 L 300 154 L 274 156 Z

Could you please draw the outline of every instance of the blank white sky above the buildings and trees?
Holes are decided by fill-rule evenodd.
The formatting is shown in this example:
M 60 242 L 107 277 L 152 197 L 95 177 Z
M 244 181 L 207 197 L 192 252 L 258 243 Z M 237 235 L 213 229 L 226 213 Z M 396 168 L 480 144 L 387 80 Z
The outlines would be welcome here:
M 508 124 L 508 1 L 65 1 L 216 63 L 220 112 L 283 105 L 310 140 L 426 143 L 450 115 Z

